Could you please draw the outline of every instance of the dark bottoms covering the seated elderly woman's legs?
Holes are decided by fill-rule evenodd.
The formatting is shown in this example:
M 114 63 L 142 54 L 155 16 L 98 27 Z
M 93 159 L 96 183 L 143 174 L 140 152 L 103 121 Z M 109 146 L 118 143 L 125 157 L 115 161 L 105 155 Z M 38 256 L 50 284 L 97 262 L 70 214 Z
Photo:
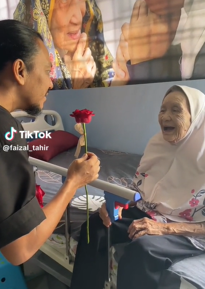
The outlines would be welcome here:
M 157 289 L 162 271 L 187 257 L 204 253 L 183 236 L 144 235 L 130 240 L 128 227 L 147 214 L 136 207 L 123 210 L 122 219 L 110 228 L 111 245 L 128 243 L 118 263 L 117 289 Z M 81 227 L 71 289 L 103 289 L 108 276 L 107 228 L 99 213 L 90 217 L 90 243 L 86 222 Z

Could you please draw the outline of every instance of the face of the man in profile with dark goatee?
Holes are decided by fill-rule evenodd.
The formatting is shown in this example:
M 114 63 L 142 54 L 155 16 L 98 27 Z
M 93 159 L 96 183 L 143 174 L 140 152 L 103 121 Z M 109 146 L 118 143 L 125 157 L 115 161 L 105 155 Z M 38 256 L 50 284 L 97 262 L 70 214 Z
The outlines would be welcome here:
M 39 53 L 33 59 L 33 69 L 25 73 L 19 92 L 23 110 L 33 116 L 41 113 L 48 91 L 53 88 L 48 50 L 41 40 L 37 40 L 37 44 Z

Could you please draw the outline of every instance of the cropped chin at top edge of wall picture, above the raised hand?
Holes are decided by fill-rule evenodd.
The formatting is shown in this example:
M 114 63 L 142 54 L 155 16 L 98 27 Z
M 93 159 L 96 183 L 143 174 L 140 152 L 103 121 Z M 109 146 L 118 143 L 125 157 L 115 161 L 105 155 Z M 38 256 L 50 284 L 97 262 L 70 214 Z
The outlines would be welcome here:
M 149 10 L 156 15 L 176 13 L 184 7 L 185 0 L 145 0 Z

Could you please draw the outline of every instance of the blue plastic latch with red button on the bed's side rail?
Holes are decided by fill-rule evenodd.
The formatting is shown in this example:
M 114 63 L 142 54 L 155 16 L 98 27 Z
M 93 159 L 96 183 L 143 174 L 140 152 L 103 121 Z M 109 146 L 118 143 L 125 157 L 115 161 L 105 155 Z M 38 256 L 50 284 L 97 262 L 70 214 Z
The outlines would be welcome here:
M 117 221 L 118 216 L 118 207 L 121 206 L 124 209 L 129 208 L 130 200 L 122 198 L 120 196 L 114 195 L 112 193 L 104 191 L 105 201 L 106 201 L 106 209 L 108 211 L 109 217 L 111 218 L 111 222 Z M 134 202 L 140 201 L 141 195 L 139 193 L 133 192 L 133 200 Z

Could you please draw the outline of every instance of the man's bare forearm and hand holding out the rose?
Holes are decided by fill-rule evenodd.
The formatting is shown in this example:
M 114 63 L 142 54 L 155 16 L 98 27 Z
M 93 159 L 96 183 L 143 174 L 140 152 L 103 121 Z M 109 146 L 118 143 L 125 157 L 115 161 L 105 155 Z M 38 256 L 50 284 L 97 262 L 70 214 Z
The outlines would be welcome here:
M 54 198 L 42 210 L 45 220 L 30 233 L 8 244 L 0 251 L 13 265 L 18 266 L 28 261 L 46 242 L 59 223 L 66 207 L 75 195 L 76 189 L 98 178 L 99 160 L 93 153 L 76 159 L 68 168 L 68 176 Z M 34 207 L 35 210 L 35 207 Z M 22 222 L 22 227 L 24 223 Z M 22 230 L 24 230 L 22 228 Z

